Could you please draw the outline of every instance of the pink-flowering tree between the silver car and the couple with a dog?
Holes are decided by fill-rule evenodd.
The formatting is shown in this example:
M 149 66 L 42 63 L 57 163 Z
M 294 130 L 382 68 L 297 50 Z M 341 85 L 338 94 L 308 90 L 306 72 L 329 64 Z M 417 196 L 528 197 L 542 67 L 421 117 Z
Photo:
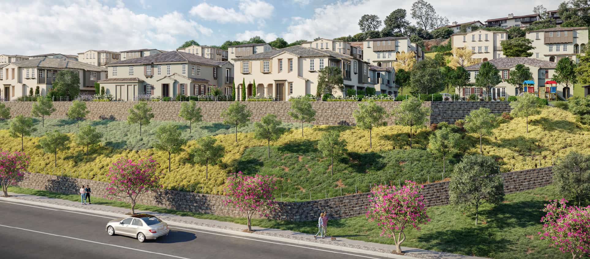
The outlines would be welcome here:
M 254 213 L 261 217 L 268 217 L 274 210 L 273 190 L 274 180 L 268 175 L 254 175 L 254 177 L 237 175 L 227 178 L 225 205 L 232 205 L 246 213 L 248 217 L 248 231 L 252 231 L 250 219 Z

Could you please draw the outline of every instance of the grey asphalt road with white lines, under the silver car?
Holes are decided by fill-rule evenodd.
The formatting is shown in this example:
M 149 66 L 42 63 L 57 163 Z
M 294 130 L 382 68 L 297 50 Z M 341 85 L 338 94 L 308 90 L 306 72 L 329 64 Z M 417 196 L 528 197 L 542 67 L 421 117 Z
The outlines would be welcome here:
M 1 258 L 376 258 L 173 225 L 168 236 L 139 243 L 109 236 L 110 218 L 0 201 Z

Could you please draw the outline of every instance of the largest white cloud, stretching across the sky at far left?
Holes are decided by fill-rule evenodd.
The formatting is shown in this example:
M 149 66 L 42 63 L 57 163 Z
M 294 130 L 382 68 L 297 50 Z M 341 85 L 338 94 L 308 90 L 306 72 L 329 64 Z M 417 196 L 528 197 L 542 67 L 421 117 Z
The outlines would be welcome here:
M 88 49 L 123 51 L 137 48 L 175 49 L 186 39 L 213 31 L 179 12 L 161 16 L 137 14 L 117 1 L 116 7 L 94 0 L 68 4 L 45 1 L 0 3 L 11 10 L 0 26 L 0 49 L 6 54 L 76 54 Z M 3 54 L 4 54 L 3 53 Z

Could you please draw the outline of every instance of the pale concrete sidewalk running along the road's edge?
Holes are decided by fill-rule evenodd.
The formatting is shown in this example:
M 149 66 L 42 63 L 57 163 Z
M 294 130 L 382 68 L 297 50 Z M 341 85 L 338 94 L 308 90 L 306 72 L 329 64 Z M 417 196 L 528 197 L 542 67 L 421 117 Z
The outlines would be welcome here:
M 100 212 L 108 212 L 109 214 L 113 214 L 113 215 L 115 215 L 115 214 L 121 215 L 121 214 L 126 214 L 127 212 L 129 212 L 129 209 L 127 209 L 127 208 L 119 208 L 119 207 L 112 207 L 112 206 L 106 206 L 106 205 L 96 205 L 96 204 L 81 205 L 80 201 L 68 201 L 68 200 L 61 200 L 61 199 L 41 197 L 41 196 L 28 195 L 28 194 L 17 194 L 17 193 L 13 193 L 13 192 L 9 192 L 9 195 L 11 195 L 11 197 L 9 197 L 9 198 L 1 198 L 0 197 L 0 199 L 4 200 L 4 201 L 13 200 L 13 201 L 35 202 L 35 203 L 38 202 L 41 204 L 67 207 L 67 208 L 70 208 L 70 210 L 77 209 L 77 210 L 93 211 L 93 212 L 96 211 L 96 213 L 99 213 L 99 214 L 100 214 Z M 183 217 L 183 216 L 179 216 L 179 215 L 166 214 L 166 213 L 160 213 L 160 212 L 152 212 L 152 211 L 136 210 L 136 212 L 149 212 L 150 214 L 156 215 L 159 218 L 161 218 L 162 220 L 164 220 L 168 223 L 172 223 L 172 224 L 173 223 L 181 223 L 181 224 L 192 225 L 195 227 L 205 227 L 205 228 L 211 228 L 211 229 L 216 229 L 216 230 L 224 230 L 224 232 L 226 232 L 226 233 L 227 233 L 227 231 L 231 231 L 231 233 L 233 233 L 233 234 L 239 233 L 239 234 L 243 235 L 244 232 L 242 232 L 242 230 L 247 228 L 246 225 L 229 223 L 229 222 L 224 222 L 224 221 L 205 220 L 205 219 L 199 219 L 199 218 L 194 218 L 194 217 Z M 391 254 L 391 251 L 395 249 L 394 245 L 369 243 L 369 242 L 365 242 L 365 241 L 340 238 L 337 236 L 336 236 L 336 238 L 337 238 L 336 241 L 331 241 L 330 238 L 324 238 L 324 239 L 319 238 L 316 240 L 316 239 L 314 239 L 312 234 L 297 233 L 297 232 L 289 231 L 289 230 L 278 230 L 275 228 L 261 228 L 261 227 L 255 227 L 255 226 L 253 226 L 252 228 L 253 228 L 253 230 L 255 230 L 254 234 L 260 235 L 261 238 L 273 239 L 273 237 L 275 237 L 275 238 L 280 239 L 282 241 L 291 242 L 291 243 L 302 243 L 302 242 L 308 243 L 308 244 L 314 243 L 311 245 L 315 245 L 315 246 L 330 246 L 330 247 L 332 247 L 333 245 L 335 245 L 335 246 L 341 247 L 341 248 L 350 248 L 349 250 L 364 250 L 369 253 L 372 252 L 371 254 L 378 255 L 378 256 L 388 255 L 387 257 L 389 257 L 389 258 L 400 258 L 401 259 L 401 258 L 408 258 L 407 256 L 409 256 L 409 257 L 424 258 L 424 259 L 484 259 L 483 257 L 473 257 L 473 256 L 467 256 L 467 255 L 460 255 L 460 254 L 428 251 L 428 250 L 422 250 L 422 249 L 418 249 L 418 248 L 409 248 L 409 247 L 402 247 L 402 251 L 404 251 L 404 253 L 406 253 L 405 255 L 407 255 L 407 256 L 400 256 L 400 255 Z M 381 253 L 385 253 L 385 255 L 379 255 Z

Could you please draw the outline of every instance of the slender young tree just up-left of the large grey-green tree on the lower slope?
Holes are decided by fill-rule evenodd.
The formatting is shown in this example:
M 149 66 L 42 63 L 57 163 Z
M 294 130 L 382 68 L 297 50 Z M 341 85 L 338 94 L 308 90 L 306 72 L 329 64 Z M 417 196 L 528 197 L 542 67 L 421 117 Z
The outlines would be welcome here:
M 428 138 L 428 151 L 442 155 L 442 179 L 447 172 L 447 155 L 453 154 L 461 141 L 461 135 L 451 131 L 451 128 L 444 127 L 434 131 Z

